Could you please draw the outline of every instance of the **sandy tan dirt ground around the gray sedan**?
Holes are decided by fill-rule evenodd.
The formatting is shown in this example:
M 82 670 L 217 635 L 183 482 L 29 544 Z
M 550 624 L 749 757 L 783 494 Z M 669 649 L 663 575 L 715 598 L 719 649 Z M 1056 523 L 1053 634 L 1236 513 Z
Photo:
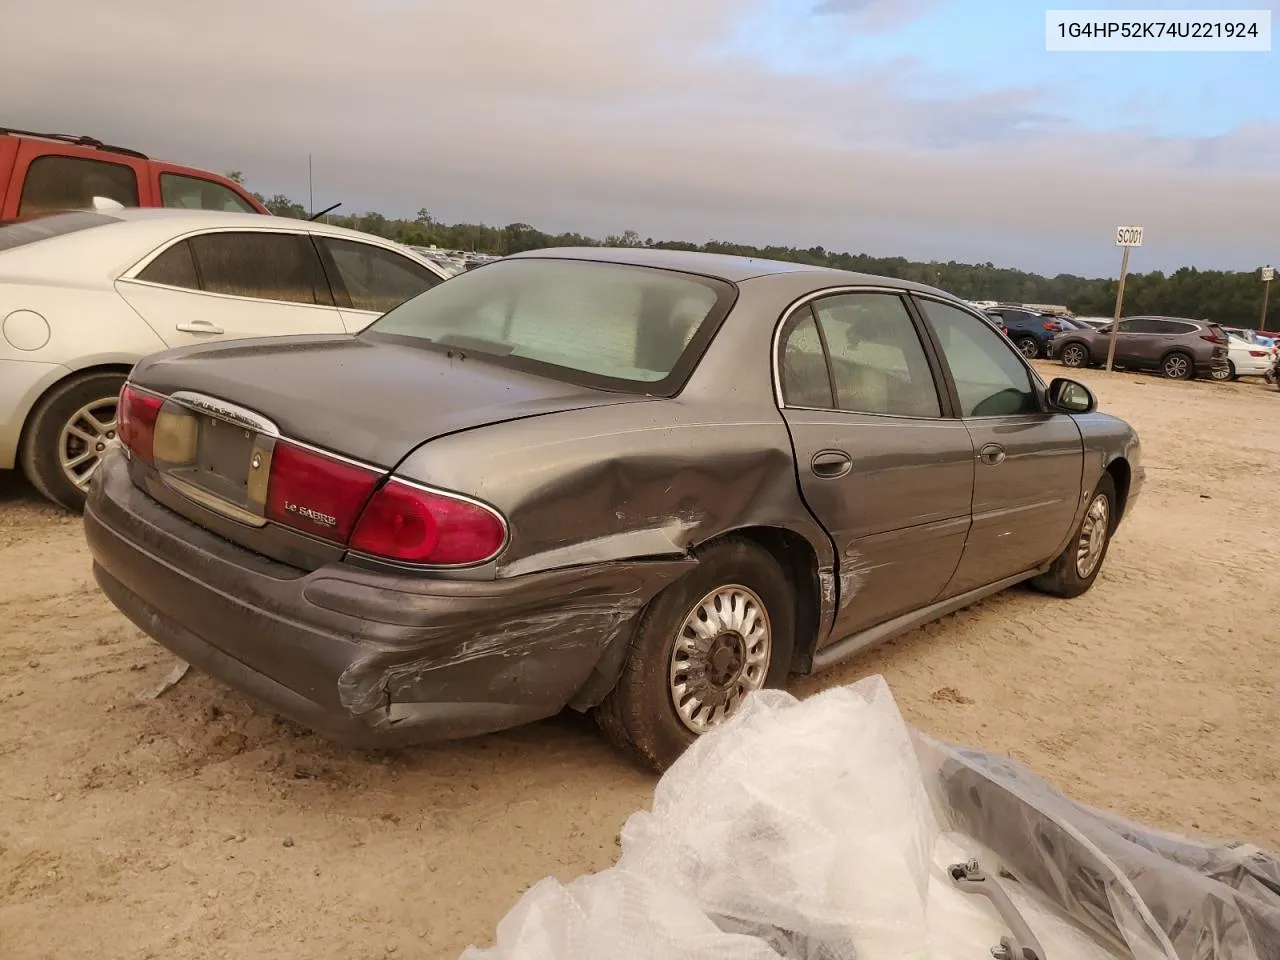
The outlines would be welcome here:
M 1055 367 L 1046 365 L 1046 375 Z M 799 692 L 908 719 L 1148 823 L 1280 847 L 1280 393 L 1085 374 L 1147 489 L 1092 593 L 1012 590 Z M 78 517 L 0 480 L 0 955 L 453 957 L 608 865 L 653 778 L 579 717 L 375 758 L 274 721 L 105 599 Z

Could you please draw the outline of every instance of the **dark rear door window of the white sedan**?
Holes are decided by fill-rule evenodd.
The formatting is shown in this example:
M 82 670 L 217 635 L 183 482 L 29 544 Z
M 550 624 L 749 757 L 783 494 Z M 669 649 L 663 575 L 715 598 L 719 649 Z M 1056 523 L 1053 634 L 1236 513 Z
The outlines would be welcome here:
M 227 232 L 192 237 L 191 252 L 209 293 L 332 305 L 320 257 L 297 233 Z

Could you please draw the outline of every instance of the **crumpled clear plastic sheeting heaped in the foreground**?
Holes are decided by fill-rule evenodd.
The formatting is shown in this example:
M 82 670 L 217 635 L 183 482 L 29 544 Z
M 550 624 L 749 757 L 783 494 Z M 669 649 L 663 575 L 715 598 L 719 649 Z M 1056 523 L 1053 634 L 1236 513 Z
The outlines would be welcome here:
M 1002 945 L 1002 946 L 1001 946 Z M 1160 833 L 911 730 L 882 677 L 751 694 L 600 873 L 462 960 L 1280 960 L 1280 860 Z

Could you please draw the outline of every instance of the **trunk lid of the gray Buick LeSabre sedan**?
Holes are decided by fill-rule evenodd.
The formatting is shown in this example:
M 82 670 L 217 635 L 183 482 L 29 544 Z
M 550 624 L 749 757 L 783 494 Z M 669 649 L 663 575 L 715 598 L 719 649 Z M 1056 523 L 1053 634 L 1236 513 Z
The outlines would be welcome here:
M 488 424 L 645 399 L 509 370 L 458 349 L 349 335 L 184 347 L 140 361 L 131 381 L 169 398 L 155 419 L 152 467 L 134 474 L 136 481 L 188 520 L 303 570 L 346 552 L 353 517 L 326 506 L 342 498 L 338 488 L 392 471 L 422 443 Z M 311 495 L 284 503 L 292 521 L 307 520 L 301 525 L 269 522 L 279 518 L 271 507 L 275 467 L 291 471 L 294 486 L 298 470 L 312 468 L 289 467 L 296 454 L 282 439 L 337 454 L 325 461 L 335 474 L 312 474 Z

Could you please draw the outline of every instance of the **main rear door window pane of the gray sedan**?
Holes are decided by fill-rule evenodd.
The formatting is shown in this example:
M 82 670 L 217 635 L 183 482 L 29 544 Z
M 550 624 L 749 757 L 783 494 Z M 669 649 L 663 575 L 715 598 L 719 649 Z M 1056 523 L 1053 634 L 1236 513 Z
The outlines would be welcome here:
M 814 301 L 840 410 L 883 416 L 942 415 L 933 372 L 901 297 L 841 293 Z

